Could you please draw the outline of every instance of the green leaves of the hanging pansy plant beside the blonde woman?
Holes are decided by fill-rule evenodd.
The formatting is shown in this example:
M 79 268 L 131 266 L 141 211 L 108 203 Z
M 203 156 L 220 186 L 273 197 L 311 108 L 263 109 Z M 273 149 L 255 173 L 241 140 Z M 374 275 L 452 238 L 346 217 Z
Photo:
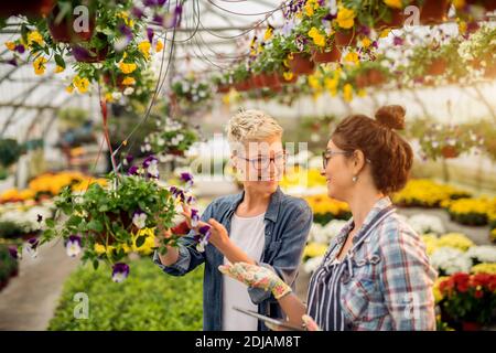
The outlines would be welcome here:
M 57 213 L 66 217 L 63 222 L 46 220 L 47 229 L 41 237 L 41 244 L 71 235 L 85 234 L 82 239 L 83 260 L 107 259 L 117 263 L 125 258 L 127 247 L 132 248 L 137 229 L 132 224 L 133 213 L 140 211 L 147 215 L 144 227 L 155 228 L 159 224 L 171 227 L 175 216 L 174 199 L 168 189 L 153 180 L 141 176 L 116 176 L 107 179 L 108 188 L 98 183 L 89 185 L 84 194 L 73 194 L 65 188 L 55 201 Z M 97 254 L 95 245 L 108 247 L 114 252 Z

